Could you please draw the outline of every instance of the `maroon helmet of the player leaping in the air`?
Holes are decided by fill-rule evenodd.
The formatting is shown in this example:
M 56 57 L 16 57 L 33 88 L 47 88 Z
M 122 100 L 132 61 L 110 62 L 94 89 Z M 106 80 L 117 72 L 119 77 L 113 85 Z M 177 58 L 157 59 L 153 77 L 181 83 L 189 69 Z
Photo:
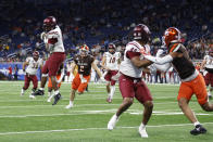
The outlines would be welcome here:
M 57 26 L 57 20 L 55 20 L 55 17 L 54 16 L 48 16 L 48 17 L 46 17 L 45 20 L 43 20 L 43 30 L 45 31 L 50 31 L 50 30 L 52 30 L 52 29 L 54 29 L 55 28 L 55 26 Z

